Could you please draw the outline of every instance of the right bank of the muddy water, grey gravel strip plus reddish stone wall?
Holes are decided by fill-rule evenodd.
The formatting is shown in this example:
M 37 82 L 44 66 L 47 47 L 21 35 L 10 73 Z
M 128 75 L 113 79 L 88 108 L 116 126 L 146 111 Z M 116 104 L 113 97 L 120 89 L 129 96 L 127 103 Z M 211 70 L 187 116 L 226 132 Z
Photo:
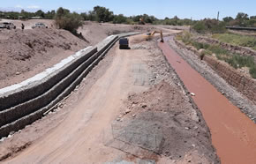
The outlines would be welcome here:
M 205 61 L 200 61 L 197 51 L 187 49 L 180 41 L 170 40 L 169 45 L 187 63 L 190 63 L 193 69 L 200 72 L 220 93 L 256 123 L 255 80 L 246 77 L 227 63 L 217 61 L 213 57 L 205 56 Z

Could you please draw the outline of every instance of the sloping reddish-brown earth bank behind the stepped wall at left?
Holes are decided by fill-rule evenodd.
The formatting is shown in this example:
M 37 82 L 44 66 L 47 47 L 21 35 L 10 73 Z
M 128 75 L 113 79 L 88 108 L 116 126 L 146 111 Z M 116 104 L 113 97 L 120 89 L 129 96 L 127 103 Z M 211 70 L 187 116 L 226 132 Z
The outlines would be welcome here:
M 25 76 L 24 72 L 33 71 L 34 67 L 48 68 L 64 57 L 87 47 L 87 42 L 64 30 L 17 29 L 2 31 L 0 45 L 1 88 L 11 84 L 10 80 L 3 82 L 4 79 L 19 74 Z

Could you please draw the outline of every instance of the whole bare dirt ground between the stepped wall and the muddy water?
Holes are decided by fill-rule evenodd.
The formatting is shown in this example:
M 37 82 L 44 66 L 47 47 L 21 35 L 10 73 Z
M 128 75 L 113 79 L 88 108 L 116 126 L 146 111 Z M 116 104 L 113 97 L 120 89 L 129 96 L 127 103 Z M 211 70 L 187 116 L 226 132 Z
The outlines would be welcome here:
M 0 159 L 219 163 L 200 111 L 156 43 L 141 37 L 131 37 L 131 50 L 116 44 L 56 112 L 0 143 Z

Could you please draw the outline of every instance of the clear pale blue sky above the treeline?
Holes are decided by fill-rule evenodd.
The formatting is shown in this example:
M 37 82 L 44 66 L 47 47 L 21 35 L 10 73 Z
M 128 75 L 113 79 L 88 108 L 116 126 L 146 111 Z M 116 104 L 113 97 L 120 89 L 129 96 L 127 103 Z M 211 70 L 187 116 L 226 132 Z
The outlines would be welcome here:
M 131 16 L 147 13 L 159 19 L 175 15 L 182 19 L 216 18 L 218 11 L 221 19 L 235 17 L 241 11 L 249 16 L 256 15 L 255 0 L 0 0 L 2 11 L 49 11 L 64 7 L 81 12 L 93 10 L 95 5 L 107 7 L 115 14 Z

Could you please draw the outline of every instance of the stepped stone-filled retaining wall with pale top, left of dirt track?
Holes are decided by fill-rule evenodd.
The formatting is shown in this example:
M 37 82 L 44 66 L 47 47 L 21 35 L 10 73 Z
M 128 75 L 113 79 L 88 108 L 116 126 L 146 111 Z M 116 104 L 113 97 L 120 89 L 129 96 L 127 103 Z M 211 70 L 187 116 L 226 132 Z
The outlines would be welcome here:
M 138 33 L 111 35 L 95 47 L 84 48 L 33 78 L 0 89 L 0 138 L 40 119 L 79 85 L 119 37 L 133 34 Z

